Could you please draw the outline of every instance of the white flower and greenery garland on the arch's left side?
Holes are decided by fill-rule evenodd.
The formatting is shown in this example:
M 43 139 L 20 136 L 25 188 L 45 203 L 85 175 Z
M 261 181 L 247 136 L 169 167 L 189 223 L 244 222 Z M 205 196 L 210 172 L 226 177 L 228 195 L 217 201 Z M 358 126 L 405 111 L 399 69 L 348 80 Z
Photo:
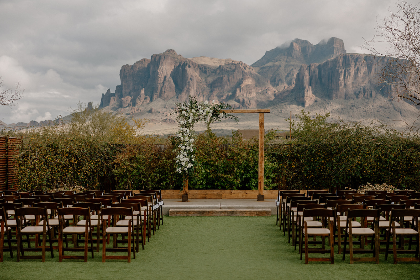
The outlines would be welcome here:
M 232 106 L 224 103 L 215 103 L 202 101 L 198 102 L 196 97 L 189 97 L 188 102 L 175 103 L 175 109 L 171 115 L 176 114 L 179 130 L 176 133 L 176 138 L 179 139 L 180 144 L 174 152 L 176 153 L 176 172 L 184 173 L 188 176 L 195 166 L 195 146 L 194 141 L 197 134 L 194 131 L 194 124 L 197 122 L 204 122 L 207 129 L 210 128 L 210 123 L 221 121 L 222 118 L 233 118 L 238 121 L 234 115 L 230 113 L 221 113 L 220 110 L 231 109 Z

